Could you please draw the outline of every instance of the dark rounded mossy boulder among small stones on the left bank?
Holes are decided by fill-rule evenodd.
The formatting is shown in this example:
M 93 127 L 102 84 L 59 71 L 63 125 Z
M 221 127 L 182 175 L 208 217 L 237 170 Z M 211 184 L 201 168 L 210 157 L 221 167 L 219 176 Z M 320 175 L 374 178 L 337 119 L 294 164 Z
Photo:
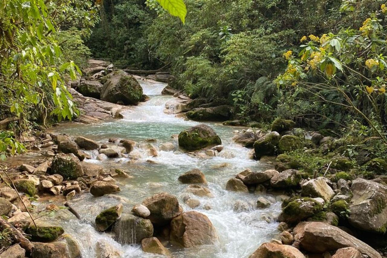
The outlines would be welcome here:
M 74 154 L 57 154 L 52 160 L 50 174 L 59 174 L 64 180 L 74 180 L 83 176 L 83 169 Z

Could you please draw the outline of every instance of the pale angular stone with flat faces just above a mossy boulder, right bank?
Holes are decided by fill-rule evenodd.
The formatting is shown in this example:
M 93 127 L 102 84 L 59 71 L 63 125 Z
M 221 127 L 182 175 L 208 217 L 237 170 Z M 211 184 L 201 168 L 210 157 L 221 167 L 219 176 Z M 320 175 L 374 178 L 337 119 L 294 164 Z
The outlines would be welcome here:
M 302 196 L 306 197 L 320 197 L 324 201 L 331 201 L 332 197 L 335 195 L 335 192 L 328 185 L 327 179 L 325 177 L 317 177 L 315 179 L 310 179 L 304 182 L 302 185 Z

